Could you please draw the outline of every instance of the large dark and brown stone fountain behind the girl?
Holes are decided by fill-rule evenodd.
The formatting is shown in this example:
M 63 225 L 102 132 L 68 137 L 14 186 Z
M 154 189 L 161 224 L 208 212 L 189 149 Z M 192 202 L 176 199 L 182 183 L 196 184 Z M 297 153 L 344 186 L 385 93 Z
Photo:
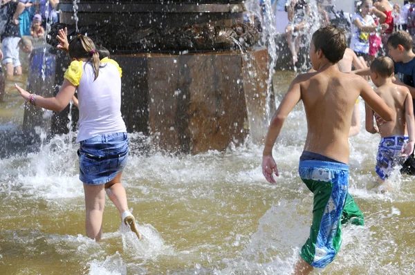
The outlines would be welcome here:
M 275 108 L 268 50 L 243 23 L 243 1 L 61 0 L 59 8 L 50 48 L 35 50 L 30 61 L 33 93 L 59 91 L 70 60 L 55 49 L 55 35 L 67 26 L 69 37 L 82 33 L 110 50 L 123 70 L 127 130 L 154 137 L 158 149 L 200 153 L 239 145 L 248 134 L 253 142 L 264 139 Z M 69 108 L 50 115 L 28 106 L 24 128 L 66 133 Z M 75 108 L 71 115 L 75 123 Z

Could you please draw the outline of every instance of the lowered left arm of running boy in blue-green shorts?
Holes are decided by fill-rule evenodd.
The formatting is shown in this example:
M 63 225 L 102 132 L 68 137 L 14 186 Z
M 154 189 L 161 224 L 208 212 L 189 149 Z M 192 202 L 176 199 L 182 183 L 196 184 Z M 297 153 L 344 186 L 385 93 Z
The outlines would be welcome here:
M 275 182 L 273 178 L 273 172 L 275 176 L 278 176 L 277 164 L 273 158 L 273 146 L 275 140 L 277 140 L 279 132 L 284 125 L 287 115 L 293 110 L 294 106 L 301 99 L 301 88 L 300 88 L 300 79 L 303 78 L 302 75 L 296 77 L 291 83 L 290 88 L 288 88 L 288 93 L 282 99 L 281 104 L 279 104 L 277 111 L 275 111 L 273 118 L 268 127 L 268 133 L 266 134 L 264 152 L 262 154 L 262 173 L 264 174 L 268 182 Z

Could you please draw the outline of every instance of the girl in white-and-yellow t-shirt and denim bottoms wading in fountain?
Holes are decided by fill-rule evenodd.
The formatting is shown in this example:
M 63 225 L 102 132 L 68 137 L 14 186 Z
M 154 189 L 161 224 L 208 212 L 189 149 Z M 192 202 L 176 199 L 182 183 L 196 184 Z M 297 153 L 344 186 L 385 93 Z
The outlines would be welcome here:
M 80 180 L 84 183 L 86 236 L 100 240 L 105 193 L 120 212 L 122 221 L 136 233 L 135 218 L 127 205 L 121 176 L 129 152 L 127 129 L 121 117 L 121 75 L 117 62 L 100 60 L 89 37 L 78 35 L 68 43 L 67 30 L 59 30 L 58 48 L 73 60 L 66 70 L 64 83 L 55 97 L 30 94 L 15 84 L 30 104 L 53 111 L 68 106 L 77 90 L 80 119 L 77 142 L 80 142 Z

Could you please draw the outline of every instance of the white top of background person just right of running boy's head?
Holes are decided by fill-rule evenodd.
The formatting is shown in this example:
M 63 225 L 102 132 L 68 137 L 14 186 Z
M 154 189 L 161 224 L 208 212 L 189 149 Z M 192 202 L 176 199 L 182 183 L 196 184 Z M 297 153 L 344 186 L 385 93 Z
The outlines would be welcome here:
M 369 32 L 360 32 L 353 23 L 356 19 L 359 19 L 363 26 L 373 26 L 375 21 L 370 15 L 366 15 L 365 21 L 358 13 L 351 18 L 350 48 L 356 53 L 369 53 Z

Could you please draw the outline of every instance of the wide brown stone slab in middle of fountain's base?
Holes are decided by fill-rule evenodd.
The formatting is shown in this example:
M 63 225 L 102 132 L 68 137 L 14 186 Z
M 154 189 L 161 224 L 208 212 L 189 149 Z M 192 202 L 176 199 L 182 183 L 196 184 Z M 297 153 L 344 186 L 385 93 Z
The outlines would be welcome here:
M 241 56 L 194 55 L 189 63 L 192 153 L 219 150 L 246 136 L 246 106 L 241 79 Z

